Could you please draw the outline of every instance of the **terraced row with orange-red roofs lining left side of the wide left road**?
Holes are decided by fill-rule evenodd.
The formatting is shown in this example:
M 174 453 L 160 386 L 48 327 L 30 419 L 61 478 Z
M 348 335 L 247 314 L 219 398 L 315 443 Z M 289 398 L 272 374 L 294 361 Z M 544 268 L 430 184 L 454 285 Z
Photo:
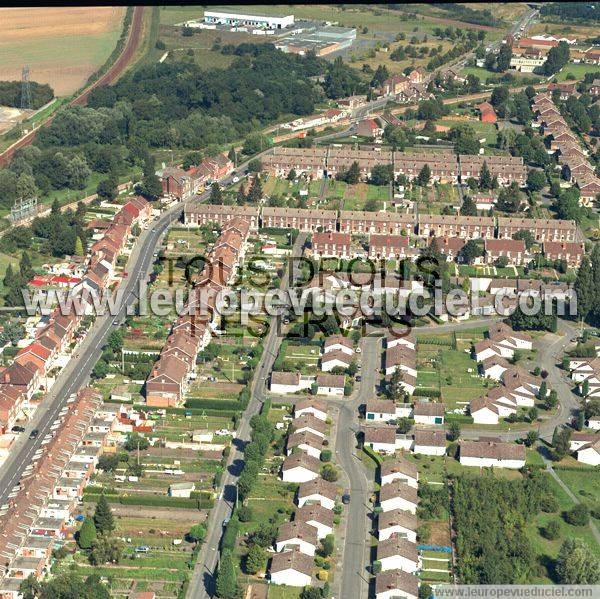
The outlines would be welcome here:
M 141 197 L 131 198 L 115 215 L 100 239 L 90 248 L 89 262 L 82 279 L 68 292 L 82 306 L 81 314 L 71 310 L 63 314 L 59 307 L 49 315 L 49 322 L 35 339 L 21 348 L 14 362 L 0 370 L 0 431 L 6 433 L 17 420 L 28 418 L 38 400 L 54 384 L 53 370 L 69 361 L 73 346 L 81 340 L 81 319 L 91 314 L 91 295 L 112 289 L 120 278 L 115 272 L 117 258 L 131 237 L 134 224 L 151 216 L 151 206 Z M 41 397 L 40 397 L 40 394 Z

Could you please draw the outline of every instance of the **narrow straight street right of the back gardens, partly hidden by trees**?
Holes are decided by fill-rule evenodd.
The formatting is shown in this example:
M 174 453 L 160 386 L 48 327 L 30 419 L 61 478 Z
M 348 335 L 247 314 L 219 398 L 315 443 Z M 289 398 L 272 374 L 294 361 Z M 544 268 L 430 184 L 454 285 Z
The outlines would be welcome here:
M 306 233 L 298 235 L 292 249 L 292 256 L 302 255 L 306 237 Z M 292 272 L 291 276 L 289 276 L 288 270 L 286 276 L 282 278 L 280 289 L 285 291 L 289 287 L 290 282 L 293 283 L 296 280 L 297 275 L 297 272 Z M 242 414 L 232 451 L 227 462 L 227 468 L 221 481 L 219 499 L 208 518 L 208 536 L 200 551 L 190 581 L 187 593 L 187 597 L 189 598 L 212 597 L 215 593 L 215 573 L 219 560 L 219 543 L 223 533 L 222 523 L 225 519 L 231 517 L 237 495 L 237 479 L 241 474 L 244 464 L 244 446 L 250 440 L 250 418 L 260 412 L 266 398 L 266 382 L 273 368 L 273 362 L 277 357 L 281 343 L 279 331 L 280 318 L 273 317 L 271 319 L 271 327 L 263 342 L 264 349 L 260 362 L 252 378 L 251 399 L 246 411 Z

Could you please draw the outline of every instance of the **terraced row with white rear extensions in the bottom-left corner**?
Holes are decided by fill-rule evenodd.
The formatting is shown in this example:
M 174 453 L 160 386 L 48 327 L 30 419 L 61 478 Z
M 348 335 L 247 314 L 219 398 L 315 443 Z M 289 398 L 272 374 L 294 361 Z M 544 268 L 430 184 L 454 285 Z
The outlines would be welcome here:
M 50 571 L 52 551 L 75 526 L 75 512 L 117 422 L 119 406 L 103 406 L 86 388 L 73 396 L 55 437 L 0 516 L 0 597 L 22 597 L 30 575 Z

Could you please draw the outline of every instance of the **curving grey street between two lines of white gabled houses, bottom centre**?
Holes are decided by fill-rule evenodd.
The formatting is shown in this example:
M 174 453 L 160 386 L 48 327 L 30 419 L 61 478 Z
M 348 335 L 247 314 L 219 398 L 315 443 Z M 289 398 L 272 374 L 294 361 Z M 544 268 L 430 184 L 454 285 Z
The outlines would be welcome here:
M 365 337 L 362 343 L 362 381 L 354 398 L 341 404 L 337 423 L 336 456 L 349 481 L 350 504 L 346 507 L 346 534 L 343 539 L 344 555 L 342 590 L 340 597 L 362 599 L 369 593 L 367 562 L 370 559 L 369 530 L 371 528 L 367 497 L 372 481 L 356 454 L 356 433 L 359 430 L 358 408 L 375 396 L 375 384 L 381 366 L 381 338 Z

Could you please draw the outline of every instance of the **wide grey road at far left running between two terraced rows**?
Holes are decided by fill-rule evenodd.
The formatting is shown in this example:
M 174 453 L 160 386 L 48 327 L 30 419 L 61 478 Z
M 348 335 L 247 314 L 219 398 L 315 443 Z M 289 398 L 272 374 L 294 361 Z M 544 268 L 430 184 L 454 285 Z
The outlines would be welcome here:
M 133 304 L 136 300 L 138 282 L 147 279 L 157 243 L 169 224 L 179 218 L 180 213 L 181 205 L 174 206 L 163 213 L 151 228 L 142 232 L 128 262 L 129 276 L 126 279 L 124 302 L 119 314 L 96 318 L 93 327 L 77 350 L 80 357 L 73 357 L 63 368 L 48 397 L 27 424 L 25 433 L 21 434 L 17 445 L 0 468 L 0 504 L 6 503 L 13 486 L 19 481 L 23 470 L 40 448 L 44 436 L 48 434 L 50 426 L 66 404 L 68 397 L 87 383 L 90 372 L 102 353 L 102 346 L 112 329 L 118 326 L 114 321 L 121 323 L 125 319 L 127 305 Z M 28 434 L 34 428 L 39 430 L 39 436 L 35 440 L 29 440 Z

